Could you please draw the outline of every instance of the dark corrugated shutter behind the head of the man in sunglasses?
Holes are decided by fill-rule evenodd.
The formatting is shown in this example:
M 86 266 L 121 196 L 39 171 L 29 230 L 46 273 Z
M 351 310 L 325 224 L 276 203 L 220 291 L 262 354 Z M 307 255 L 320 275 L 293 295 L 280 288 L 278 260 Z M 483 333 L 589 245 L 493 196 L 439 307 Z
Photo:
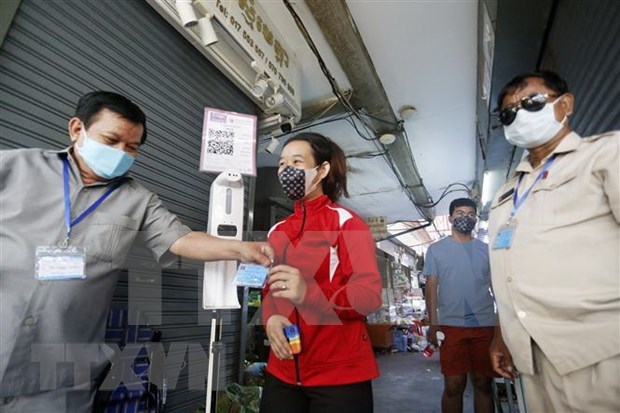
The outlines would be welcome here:
M 620 129 L 620 2 L 558 3 L 541 67 L 575 95 L 571 127 L 582 136 Z

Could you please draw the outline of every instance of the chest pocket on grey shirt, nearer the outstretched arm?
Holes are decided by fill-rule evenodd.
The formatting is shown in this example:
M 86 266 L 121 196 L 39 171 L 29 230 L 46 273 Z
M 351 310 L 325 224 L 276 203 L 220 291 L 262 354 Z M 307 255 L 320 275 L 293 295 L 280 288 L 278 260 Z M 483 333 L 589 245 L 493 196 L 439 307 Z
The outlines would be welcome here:
M 86 242 L 86 255 L 120 266 L 127 257 L 140 225 L 124 215 L 95 212 Z

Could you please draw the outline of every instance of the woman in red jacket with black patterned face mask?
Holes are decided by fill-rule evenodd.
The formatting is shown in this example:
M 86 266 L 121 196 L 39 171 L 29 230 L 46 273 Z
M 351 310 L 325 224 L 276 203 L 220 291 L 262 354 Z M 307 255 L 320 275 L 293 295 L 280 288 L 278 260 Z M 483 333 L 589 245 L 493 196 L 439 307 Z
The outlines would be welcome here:
M 295 212 L 269 232 L 276 259 L 263 291 L 271 352 L 262 413 L 373 411 L 379 375 L 365 316 L 381 305 L 375 243 L 366 224 L 335 203 L 348 196 L 346 158 L 330 139 L 303 133 L 282 149 L 278 178 Z M 295 324 L 301 352 L 284 329 Z

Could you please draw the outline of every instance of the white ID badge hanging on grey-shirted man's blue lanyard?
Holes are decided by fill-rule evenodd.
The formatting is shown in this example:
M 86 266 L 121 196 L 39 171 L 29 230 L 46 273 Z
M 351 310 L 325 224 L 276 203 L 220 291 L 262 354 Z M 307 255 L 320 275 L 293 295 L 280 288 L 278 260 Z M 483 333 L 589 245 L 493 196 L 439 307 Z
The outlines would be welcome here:
M 39 281 L 83 280 L 84 247 L 40 246 L 36 249 L 34 278 Z

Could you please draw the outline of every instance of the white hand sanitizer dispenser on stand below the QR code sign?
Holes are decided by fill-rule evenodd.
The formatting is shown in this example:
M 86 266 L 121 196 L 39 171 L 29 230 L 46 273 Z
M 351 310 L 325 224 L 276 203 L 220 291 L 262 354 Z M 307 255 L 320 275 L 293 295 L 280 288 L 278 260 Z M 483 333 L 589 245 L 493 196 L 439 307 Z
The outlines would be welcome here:
M 215 237 L 239 240 L 243 235 L 243 177 L 225 171 L 211 184 L 207 232 Z M 240 308 L 233 284 L 237 261 L 205 262 L 202 308 Z

